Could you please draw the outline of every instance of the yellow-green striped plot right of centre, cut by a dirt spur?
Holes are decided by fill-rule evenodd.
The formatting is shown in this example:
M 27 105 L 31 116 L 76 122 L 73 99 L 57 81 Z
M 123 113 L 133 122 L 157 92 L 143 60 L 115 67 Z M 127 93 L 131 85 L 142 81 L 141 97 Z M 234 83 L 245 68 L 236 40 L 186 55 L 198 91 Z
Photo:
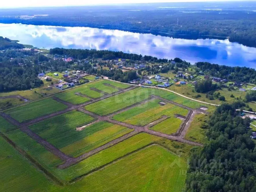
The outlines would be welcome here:
M 150 129 L 166 134 L 175 133 L 182 123 L 182 120 L 176 118 L 175 114 L 186 116 L 188 110 L 170 103 L 166 103 L 166 105 L 161 106 L 159 102 L 160 100 L 158 99 L 148 101 L 147 103 L 143 103 L 137 107 L 129 109 L 128 111 L 115 115 L 113 119 L 132 125 L 144 126 L 160 119 L 162 115 L 167 115 L 169 117 L 168 119 L 151 127 Z

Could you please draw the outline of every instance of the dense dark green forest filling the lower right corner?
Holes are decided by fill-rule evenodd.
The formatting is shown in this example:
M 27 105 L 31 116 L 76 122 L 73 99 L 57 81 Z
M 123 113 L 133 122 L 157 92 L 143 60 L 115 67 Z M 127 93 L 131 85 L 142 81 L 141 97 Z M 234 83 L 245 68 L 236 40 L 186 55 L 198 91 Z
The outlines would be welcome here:
M 236 113 L 237 103 L 222 104 L 208 119 L 208 143 L 194 148 L 186 191 L 256 191 L 256 147 L 250 119 Z

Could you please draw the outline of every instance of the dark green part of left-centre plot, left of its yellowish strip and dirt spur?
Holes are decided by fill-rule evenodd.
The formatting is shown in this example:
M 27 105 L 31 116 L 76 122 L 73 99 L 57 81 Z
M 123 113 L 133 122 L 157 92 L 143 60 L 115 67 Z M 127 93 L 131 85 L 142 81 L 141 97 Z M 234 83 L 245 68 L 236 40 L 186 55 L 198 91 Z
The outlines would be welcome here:
M 93 120 L 93 117 L 85 113 L 69 111 L 31 125 L 29 128 L 41 136 L 41 138 L 60 149 L 96 132 L 96 128 L 94 130 L 85 129 L 81 132 L 75 130 L 76 127 L 88 124 Z

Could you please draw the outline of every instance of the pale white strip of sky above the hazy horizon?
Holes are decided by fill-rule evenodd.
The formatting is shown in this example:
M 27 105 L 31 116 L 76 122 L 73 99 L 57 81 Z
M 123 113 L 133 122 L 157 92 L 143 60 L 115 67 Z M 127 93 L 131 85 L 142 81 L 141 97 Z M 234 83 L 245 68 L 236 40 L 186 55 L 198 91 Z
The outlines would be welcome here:
M 56 7 L 74 5 L 107 5 L 120 3 L 167 3 L 167 2 L 194 2 L 208 0 L 3 0 L 0 8 L 16 7 Z M 209 0 L 209 1 L 231 1 L 231 0 Z M 232 0 L 234 1 L 234 0 Z M 237 0 L 238 1 L 238 0 Z M 243 1 L 243 0 L 239 0 Z

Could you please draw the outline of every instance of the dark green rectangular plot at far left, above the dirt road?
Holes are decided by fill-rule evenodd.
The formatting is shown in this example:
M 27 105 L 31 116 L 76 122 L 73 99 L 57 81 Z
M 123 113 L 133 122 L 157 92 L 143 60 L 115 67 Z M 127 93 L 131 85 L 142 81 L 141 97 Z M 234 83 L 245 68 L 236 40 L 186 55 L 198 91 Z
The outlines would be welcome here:
M 67 106 L 55 101 L 54 99 L 45 98 L 39 101 L 34 101 L 26 105 L 19 107 L 7 109 L 4 112 L 19 122 L 24 122 L 26 120 L 35 119 L 43 115 L 51 114 L 56 111 L 61 111 L 66 109 Z

